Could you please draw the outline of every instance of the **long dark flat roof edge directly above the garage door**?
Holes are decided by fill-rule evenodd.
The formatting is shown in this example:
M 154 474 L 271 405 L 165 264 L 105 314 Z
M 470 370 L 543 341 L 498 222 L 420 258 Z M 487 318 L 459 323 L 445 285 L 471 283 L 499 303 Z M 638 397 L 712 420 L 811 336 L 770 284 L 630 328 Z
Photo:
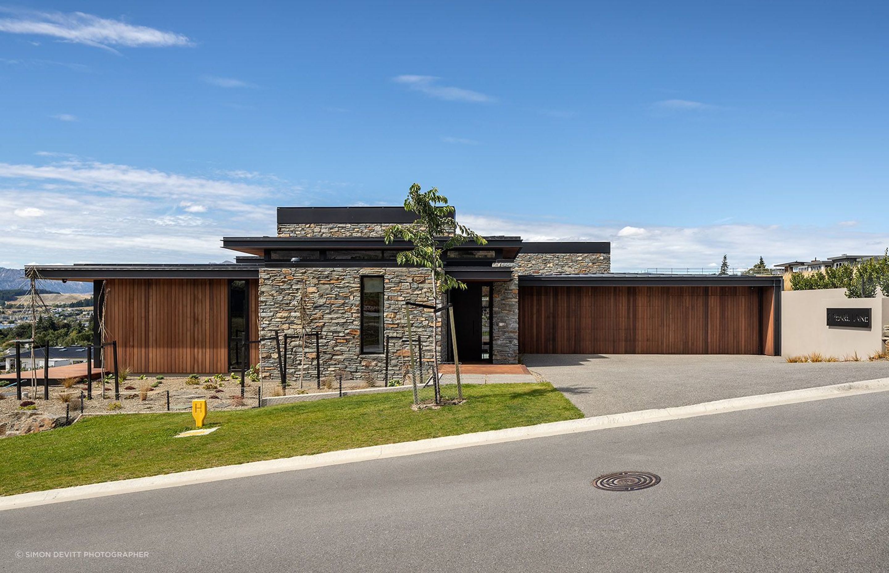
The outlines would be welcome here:
M 586 275 L 522 275 L 519 286 L 778 286 L 784 279 L 739 275 L 654 275 L 603 273 Z

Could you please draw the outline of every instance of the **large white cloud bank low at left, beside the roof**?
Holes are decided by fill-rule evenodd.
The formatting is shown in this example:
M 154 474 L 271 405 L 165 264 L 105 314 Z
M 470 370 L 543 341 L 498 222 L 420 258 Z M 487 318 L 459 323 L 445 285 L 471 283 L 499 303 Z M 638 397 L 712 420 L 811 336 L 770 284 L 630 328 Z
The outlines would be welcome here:
M 222 261 L 234 254 L 220 237 L 274 233 L 275 207 L 304 203 L 292 184 L 262 174 L 238 180 L 40 157 L 49 163 L 0 163 L 0 212 L 10 214 L 0 220 L 0 253 L 16 265 Z

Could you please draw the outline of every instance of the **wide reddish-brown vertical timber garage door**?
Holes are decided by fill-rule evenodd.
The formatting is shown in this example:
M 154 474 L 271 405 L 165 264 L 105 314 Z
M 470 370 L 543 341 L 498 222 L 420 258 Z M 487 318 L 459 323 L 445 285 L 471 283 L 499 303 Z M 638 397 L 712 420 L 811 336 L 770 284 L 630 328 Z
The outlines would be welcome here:
M 519 351 L 762 354 L 771 300 L 762 286 L 522 286 Z

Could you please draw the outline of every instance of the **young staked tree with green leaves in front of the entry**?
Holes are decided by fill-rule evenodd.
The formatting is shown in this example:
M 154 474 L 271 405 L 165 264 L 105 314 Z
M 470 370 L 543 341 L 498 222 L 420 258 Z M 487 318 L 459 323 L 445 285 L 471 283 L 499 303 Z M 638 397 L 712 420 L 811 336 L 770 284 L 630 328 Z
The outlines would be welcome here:
M 395 238 L 403 238 L 413 245 L 412 250 L 399 253 L 396 260 L 398 264 L 425 267 L 429 270 L 432 277 L 432 304 L 437 307 L 439 291 L 444 294 L 451 288 L 466 288 L 464 283 L 445 273 L 442 252 L 469 240 L 475 241 L 477 245 L 485 245 L 487 241 L 454 220 L 454 207 L 448 205 L 447 198 L 435 187 L 424 192 L 420 190 L 418 183 L 412 184 L 407 198 L 404 199 L 404 209 L 417 214 L 417 220 L 389 226 L 385 240 L 391 243 Z M 433 375 L 437 385 L 438 334 L 435 319 L 432 321 L 432 341 Z

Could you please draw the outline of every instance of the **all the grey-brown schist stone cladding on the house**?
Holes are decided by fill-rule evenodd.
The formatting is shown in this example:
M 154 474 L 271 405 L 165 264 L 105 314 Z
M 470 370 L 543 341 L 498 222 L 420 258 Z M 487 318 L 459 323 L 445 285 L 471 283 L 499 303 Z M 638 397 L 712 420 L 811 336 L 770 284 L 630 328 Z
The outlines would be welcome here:
M 381 238 L 391 223 L 380 222 L 282 222 L 280 237 L 305 238 Z M 483 247 L 484 248 L 484 247 Z M 368 262 L 372 265 L 372 262 Z M 493 341 L 495 364 L 518 361 L 518 277 L 530 274 L 571 274 L 608 272 L 607 253 L 519 253 L 515 262 L 495 263 L 512 269 L 508 281 L 493 282 Z M 382 385 L 385 383 L 385 354 L 361 353 L 361 278 L 383 278 L 385 334 L 389 338 L 388 378 L 404 379 L 408 369 L 407 328 L 404 303 L 432 303 L 432 287 L 426 269 L 407 267 L 264 267 L 260 269 L 260 337 L 277 331 L 291 340 L 300 335 L 300 316 L 305 330 L 319 331 L 322 378 L 335 383 L 336 377 Z M 441 295 L 439 295 L 441 299 Z M 446 300 L 446 295 L 445 295 Z M 439 300 L 439 304 L 442 301 Z M 421 337 L 423 359 L 427 368 L 432 360 L 433 317 L 430 311 L 412 309 L 412 335 Z M 443 319 L 436 319 L 439 348 L 443 336 L 449 336 Z M 418 349 L 415 347 L 415 351 Z M 305 360 L 300 360 L 302 352 Z M 298 383 L 302 362 L 303 384 L 315 383 L 315 343 L 308 336 L 304 350 L 299 342 L 290 344 L 287 360 L 288 381 Z M 445 351 L 440 359 L 445 360 Z M 274 340 L 260 343 L 261 371 L 277 376 L 277 350 Z M 426 370 L 426 375 L 430 372 Z

